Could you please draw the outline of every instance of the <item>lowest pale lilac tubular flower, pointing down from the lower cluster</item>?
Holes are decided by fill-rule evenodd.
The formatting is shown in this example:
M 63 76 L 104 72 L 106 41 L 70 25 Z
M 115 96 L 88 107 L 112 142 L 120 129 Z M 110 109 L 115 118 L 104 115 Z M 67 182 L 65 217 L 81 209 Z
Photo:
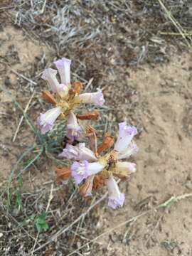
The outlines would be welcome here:
M 106 184 L 109 192 L 108 206 L 113 209 L 122 207 L 124 204 L 124 193 L 119 191 L 119 187 L 113 176 L 107 178 Z

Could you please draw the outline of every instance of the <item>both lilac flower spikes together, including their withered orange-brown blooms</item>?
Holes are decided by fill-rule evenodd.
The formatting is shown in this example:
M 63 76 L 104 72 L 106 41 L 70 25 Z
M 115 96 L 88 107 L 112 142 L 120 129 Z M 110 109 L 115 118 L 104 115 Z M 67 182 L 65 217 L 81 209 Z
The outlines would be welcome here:
M 95 120 L 100 114 L 97 110 L 86 114 L 75 114 L 75 109 L 82 103 L 102 106 L 105 100 L 100 89 L 97 89 L 97 92 L 80 94 L 81 82 L 70 81 L 70 63 L 67 58 L 61 58 L 54 62 L 58 71 L 52 68 L 43 71 L 41 78 L 48 81 L 51 92 L 43 91 L 42 97 L 50 102 L 53 108 L 39 115 L 37 125 L 45 134 L 53 128 L 56 119 L 66 121 L 68 144 L 59 156 L 73 163 L 70 167 L 57 168 L 58 181 L 68 181 L 68 178 L 72 177 L 84 197 L 92 196 L 92 190 L 106 185 L 109 194 L 108 206 L 114 209 L 122 207 L 124 193 L 119 191 L 116 178 L 129 178 L 130 174 L 136 171 L 136 164 L 122 159 L 137 153 L 137 145 L 132 141 L 137 129 L 122 122 L 119 124 L 119 134 L 115 143 L 114 137 L 106 134 L 100 146 L 97 146 L 95 129 L 87 127 L 86 137 L 89 147 L 85 143 L 80 143 L 81 127 L 78 119 Z M 57 73 L 60 82 L 56 77 Z M 111 149 L 113 144 L 114 148 Z

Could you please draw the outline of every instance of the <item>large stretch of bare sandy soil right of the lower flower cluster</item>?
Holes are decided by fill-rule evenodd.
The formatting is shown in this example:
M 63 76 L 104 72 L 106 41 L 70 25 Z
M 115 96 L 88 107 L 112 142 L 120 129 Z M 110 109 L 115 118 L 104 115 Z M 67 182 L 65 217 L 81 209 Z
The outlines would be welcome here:
M 190 55 L 173 56 L 168 65 L 129 70 L 129 85 L 137 90 L 141 100 L 139 111 L 144 127 L 137 140 L 138 171 L 127 186 L 124 208 L 106 211 L 105 228 L 112 228 L 171 195 L 191 192 L 190 63 Z M 121 92 L 119 95 L 126 98 L 124 91 Z M 126 191 L 124 184 L 122 190 Z M 191 201 L 183 201 L 116 231 L 114 239 L 107 240 L 107 255 L 191 255 L 190 209 Z M 123 242 L 117 242 L 119 236 Z M 165 240 L 177 242 L 174 250 L 166 251 L 161 246 Z

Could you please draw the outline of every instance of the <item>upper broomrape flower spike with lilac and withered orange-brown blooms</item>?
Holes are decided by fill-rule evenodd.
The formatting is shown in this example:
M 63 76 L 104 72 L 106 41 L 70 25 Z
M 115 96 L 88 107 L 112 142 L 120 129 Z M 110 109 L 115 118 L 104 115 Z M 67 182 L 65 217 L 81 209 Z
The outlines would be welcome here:
M 74 114 L 75 108 L 82 103 L 102 106 L 105 100 L 100 89 L 97 89 L 97 92 L 83 93 L 80 95 L 82 84 L 76 81 L 72 85 L 70 82 L 71 60 L 61 58 L 60 60 L 56 60 L 54 64 L 58 71 L 53 68 L 47 68 L 43 71 L 41 78 L 48 81 L 50 90 L 54 93 L 54 95 L 51 95 L 50 92 L 44 91 L 43 98 L 53 104 L 55 108 L 48 110 L 45 114 L 40 114 L 37 125 L 41 129 L 41 132 L 45 134 L 53 128 L 53 124 L 58 117 L 65 119 L 67 121 L 67 137 L 73 141 L 80 137 L 81 130 L 78 119 Z M 60 75 L 60 82 L 56 78 L 57 73 Z M 79 115 L 78 117 L 80 119 L 97 119 L 99 116 L 99 113 L 95 111 L 94 113 Z

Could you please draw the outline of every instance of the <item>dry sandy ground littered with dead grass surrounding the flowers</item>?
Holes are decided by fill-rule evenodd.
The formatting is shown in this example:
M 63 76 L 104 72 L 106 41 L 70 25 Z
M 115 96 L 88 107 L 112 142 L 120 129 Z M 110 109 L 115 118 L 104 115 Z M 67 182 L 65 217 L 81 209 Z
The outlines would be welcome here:
M 44 1 L 38 1 L 40 7 L 37 1 L 23 3 L 4 1 L 0 7 L 4 21 L 0 27 L 1 87 L 9 90 L 23 109 L 35 91 L 28 108 L 35 122 L 38 112 L 46 110 L 39 97 L 46 87 L 41 72 L 55 58 L 67 55 L 73 59 L 73 75 L 80 75 L 85 85 L 94 78 L 90 89 L 104 89 L 110 107 L 107 114 L 103 112 L 107 127 L 113 130 L 124 119 L 138 127 L 140 150 L 134 158 L 137 174 L 129 183 L 119 185 L 126 194 L 124 207 L 111 210 L 102 201 L 54 242 L 49 239 L 89 210 L 105 191 L 84 201 L 73 183 L 53 183 L 55 161 L 43 154 L 22 176 L 18 194 L 23 208 L 16 204 L 17 193 L 9 210 L 3 197 L 0 255 L 192 255 L 192 199 L 155 210 L 171 196 L 192 193 L 192 57 L 186 41 L 178 35 L 159 34 L 178 32 L 161 11 L 159 1 L 121 1 L 122 5 L 118 1 L 65 1 L 64 7 L 55 1 L 58 11 L 48 3 L 42 15 L 35 11 L 42 10 Z M 190 28 L 187 2 L 166 4 L 182 26 Z M 9 6 L 6 12 L 5 6 Z M 62 23 L 59 11 L 70 21 L 65 21 L 64 32 L 54 31 Z M 11 166 L 36 137 L 24 119 L 12 142 L 22 114 L 4 90 L 0 90 L 0 100 L 3 189 Z M 23 159 L 18 171 L 31 157 L 33 153 Z M 51 188 L 50 228 L 38 234 L 36 218 L 31 216 L 46 211 Z

